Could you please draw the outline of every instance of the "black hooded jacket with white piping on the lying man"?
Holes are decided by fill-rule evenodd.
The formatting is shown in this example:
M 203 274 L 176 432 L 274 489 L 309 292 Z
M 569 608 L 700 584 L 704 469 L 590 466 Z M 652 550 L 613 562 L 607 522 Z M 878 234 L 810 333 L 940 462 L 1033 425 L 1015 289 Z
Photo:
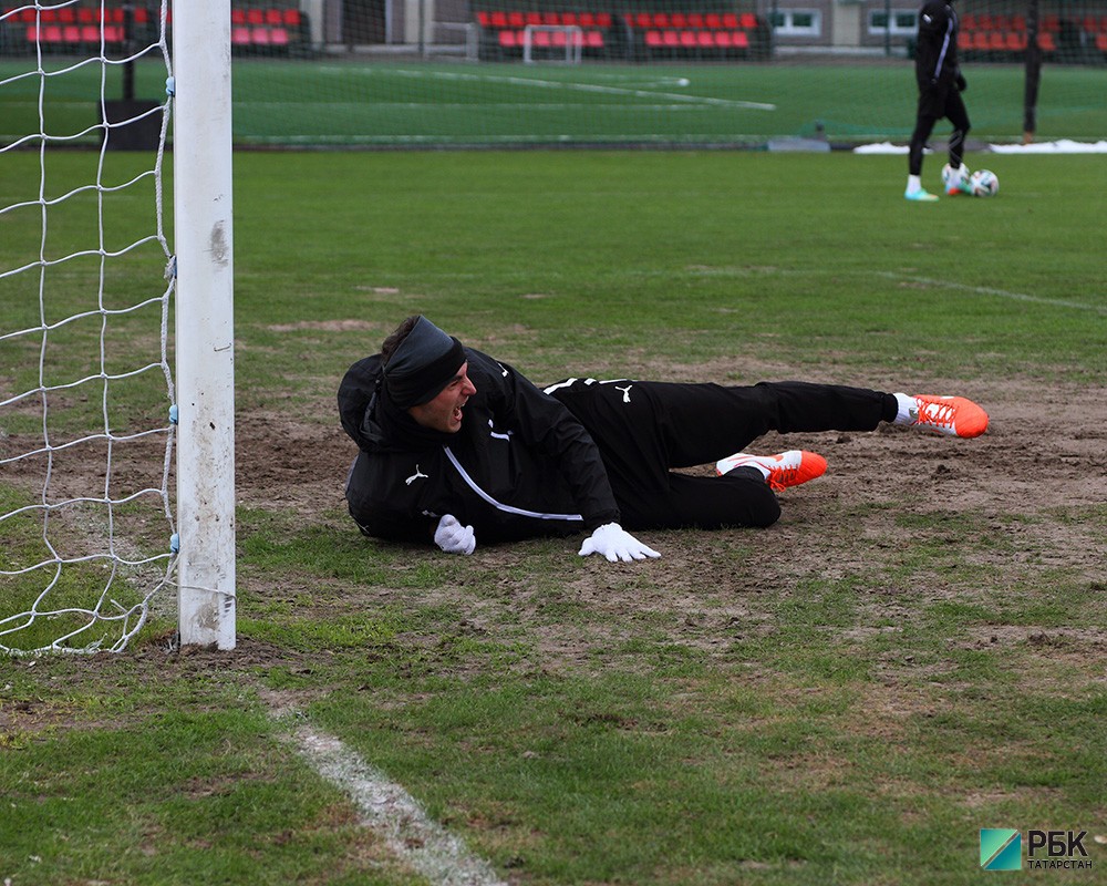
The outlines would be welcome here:
M 362 532 L 425 544 L 452 514 L 482 543 L 619 522 L 599 450 L 569 410 L 511 367 L 472 348 L 465 356 L 477 391 L 461 430 L 436 439 L 389 439 L 380 354 L 343 379 L 342 426 L 360 449 L 346 501 Z

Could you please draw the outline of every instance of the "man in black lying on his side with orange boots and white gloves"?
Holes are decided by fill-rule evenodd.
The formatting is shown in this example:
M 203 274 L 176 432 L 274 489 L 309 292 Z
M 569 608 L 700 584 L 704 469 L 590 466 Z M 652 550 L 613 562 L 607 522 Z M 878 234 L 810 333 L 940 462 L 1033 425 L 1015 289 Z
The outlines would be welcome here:
M 964 398 L 798 381 L 568 379 L 539 389 L 422 316 L 354 363 L 338 399 L 361 450 L 346 501 L 365 535 L 472 554 L 477 538 L 584 532 L 581 556 L 611 562 L 661 556 L 627 528 L 775 523 L 776 493 L 821 476 L 827 463 L 799 450 L 745 452 L 768 431 L 892 422 L 974 437 L 987 429 Z M 717 476 L 672 470 L 711 462 Z

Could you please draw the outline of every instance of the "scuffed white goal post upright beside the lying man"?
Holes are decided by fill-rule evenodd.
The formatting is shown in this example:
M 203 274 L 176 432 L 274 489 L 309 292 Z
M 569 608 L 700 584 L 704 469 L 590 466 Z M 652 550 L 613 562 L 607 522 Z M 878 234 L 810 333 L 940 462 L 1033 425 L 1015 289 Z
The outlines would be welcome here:
M 173 56 L 180 643 L 234 649 L 230 0 L 176 3 Z

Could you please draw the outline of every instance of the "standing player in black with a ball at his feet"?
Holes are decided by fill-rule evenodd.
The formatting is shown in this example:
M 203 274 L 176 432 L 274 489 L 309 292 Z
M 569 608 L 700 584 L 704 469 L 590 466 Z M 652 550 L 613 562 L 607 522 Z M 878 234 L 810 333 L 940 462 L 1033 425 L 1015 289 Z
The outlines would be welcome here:
M 938 199 L 922 186 L 922 152 L 934 124 L 942 117 L 953 124 L 948 181 L 943 182 L 945 193 L 972 193 L 969 169 L 961 159 L 969 134 L 969 112 L 961 97 L 968 85 L 958 64 L 958 27 L 953 0 L 927 0 L 919 10 L 919 40 L 914 52 L 919 110 L 908 152 L 907 190 L 903 193 L 909 200 L 930 203 Z

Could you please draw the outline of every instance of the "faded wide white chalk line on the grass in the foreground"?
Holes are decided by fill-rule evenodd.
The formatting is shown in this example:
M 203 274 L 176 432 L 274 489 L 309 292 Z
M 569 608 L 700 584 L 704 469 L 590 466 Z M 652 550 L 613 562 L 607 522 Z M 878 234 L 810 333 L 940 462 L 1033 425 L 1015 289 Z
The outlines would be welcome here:
M 289 712 L 279 715 L 289 717 Z M 308 725 L 300 725 L 293 734 L 300 753 L 315 771 L 358 805 L 363 823 L 434 886 L 506 886 L 492 865 L 432 820 L 415 797 L 341 741 Z

